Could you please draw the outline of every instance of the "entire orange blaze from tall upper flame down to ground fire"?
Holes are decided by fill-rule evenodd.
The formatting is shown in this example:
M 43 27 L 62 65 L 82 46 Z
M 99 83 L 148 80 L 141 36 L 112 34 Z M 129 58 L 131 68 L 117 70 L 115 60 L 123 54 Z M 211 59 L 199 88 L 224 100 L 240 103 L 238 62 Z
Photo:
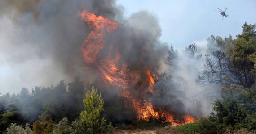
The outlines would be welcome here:
M 152 105 L 147 96 L 153 96 L 155 93 L 154 85 L 158 79 L 157 73 L 153 72 L 144 61 L 141 62 L 144 65 L 139 66 L 141 68 L 132 67 L 131 69 L 132 65 L 123 61 L 122 54 L 119 53 L 120 44 L 108 46 L 109 44 L 106 42 L 106 35 L 112 34 L 118 29 L 117 22 L 110 21 L 104 16 L 97 17 L 87 10 L 80 12 L 79 17 L 86 21 L 91 29 L 81 46 L 83 60 L 86 63 L 85 68 L 99 73 L 106 85 L 110 84 L 120 89 L 120 95 L 130 101 L 127 106 L 136 110 L 138 120 L 149 121 L 150 117 L 154 119 L 165 117 L 165 122 L 173 122 L 177 125 L 195 121 L 194 118 L 187 115 L 182 121 L 175 120 L 175 115 L 169 111 L 157 110 Z M 108 51 L 108 54 L 101 54 L 103 49 Z M 141 54 L 146 57 L 145 46 L 140 50 Z

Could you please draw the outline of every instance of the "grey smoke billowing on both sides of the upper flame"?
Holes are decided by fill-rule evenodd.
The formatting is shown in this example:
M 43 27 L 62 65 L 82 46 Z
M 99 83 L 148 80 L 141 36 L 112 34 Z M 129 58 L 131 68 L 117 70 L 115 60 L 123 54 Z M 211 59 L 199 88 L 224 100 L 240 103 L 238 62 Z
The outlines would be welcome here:
M 84 70 L 81 59 L 81 43 L 91 31 L 78 17 L 83 8 L 119 22 L 115 37 L 110 37 L 115 40 L 109 40 L 121 46 L 123 60 L 131 67 L 144 60 L 142 56 L 146 57 L 145 64 L 161 67 L 159 59 L 163 59 L 167 46 L 159 41 L 158 20 L 145 11 L 124 20 L 123 8 L 115 0 L 1 0 L 1 55 L 4 64 L 17 72 L 16 80 L 26 81 L 22 86 L 69 81 L 78 74 L 84 79 L 93 77 L 91 71 Z M 141 54 L 142 45 L 146 55 Z

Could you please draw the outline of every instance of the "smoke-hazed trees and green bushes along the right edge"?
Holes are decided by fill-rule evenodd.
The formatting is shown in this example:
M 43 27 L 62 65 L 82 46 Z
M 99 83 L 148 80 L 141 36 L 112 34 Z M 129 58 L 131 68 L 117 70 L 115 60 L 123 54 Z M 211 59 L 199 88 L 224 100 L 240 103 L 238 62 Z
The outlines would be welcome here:
M 243 133 L 256 130 L 256 25 L 242 26 L 237 39 L 231 36 L 207 39 L 208 53 L 198 84 L 218 85 L 220 96 L 209 117 L 177 129 L 185 133 Z M 245 130 L 243 130 L 245 128 Z M 193 130 L 193 131 L 191 131 Z

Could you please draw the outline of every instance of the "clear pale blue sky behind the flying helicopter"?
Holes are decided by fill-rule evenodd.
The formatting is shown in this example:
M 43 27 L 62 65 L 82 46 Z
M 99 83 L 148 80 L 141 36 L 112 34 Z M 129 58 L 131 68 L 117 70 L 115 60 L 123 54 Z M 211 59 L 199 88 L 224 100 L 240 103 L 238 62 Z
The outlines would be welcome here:
M 117 0 L 124 16 L 146 10 L 155 14 L 162 28 L 160 40 L 183 49 L 191 43 L 203 45 L 211 35 L 233 38 L 242 33 L 244 22 L 256 23 L 256 0 Z M 228 18 L 220 17 L 225 10 Z M 230 12 L 232 11 L 232 12 Z

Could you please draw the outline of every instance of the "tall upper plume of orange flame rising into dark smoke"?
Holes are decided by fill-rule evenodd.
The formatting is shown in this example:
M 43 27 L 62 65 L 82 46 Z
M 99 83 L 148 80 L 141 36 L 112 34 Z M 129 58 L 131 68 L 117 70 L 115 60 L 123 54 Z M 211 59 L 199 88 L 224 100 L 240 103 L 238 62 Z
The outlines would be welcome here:
M 120 59 L 119 51 L 116 49 L 114 59 L 110 54 L 111 48 L 108 56 L 97 56 L 99 50 L 103 49 L 106 45 L 106 32 L 113 32 L 118 27 L 118 24 L 110 21 L 102 15 L 96 17 L 94 14 L 88 13 L 87 10 L 83 10 L 81 13 L 79 13 L 79 16 L 82 20 L 87 22 L 91 29 L 93 29 L 93 31 L 88 34 L 88 37 L 84 40 L 84 43 L 81 46 L 84 61 L 88 64 L 95 65 L 97 69 L 102 72 L 102 79 L 106 84 L 110 83 L 112 85 L 121 87 L 125 82 L 123 79 L 124 70 L 120 70 L 119 73 L 117 73 L 117 63 Z M 99 61 L 96 61 L 97 58 L 99 58 Z M 127 64 L 123 64 L 122 66 L 125 68 Z M 123 82 L 117 83 L 118 81 Z

